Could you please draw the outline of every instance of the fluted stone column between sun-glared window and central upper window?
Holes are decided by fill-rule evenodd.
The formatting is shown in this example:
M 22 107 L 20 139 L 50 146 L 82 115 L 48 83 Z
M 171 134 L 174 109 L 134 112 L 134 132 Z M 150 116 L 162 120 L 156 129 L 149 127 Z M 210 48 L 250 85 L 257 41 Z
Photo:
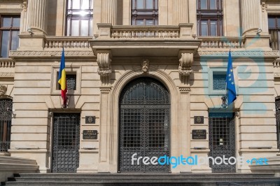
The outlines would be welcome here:
M 102 0 L 102 23 L 117 23 L 117 1 L 116 0 Z

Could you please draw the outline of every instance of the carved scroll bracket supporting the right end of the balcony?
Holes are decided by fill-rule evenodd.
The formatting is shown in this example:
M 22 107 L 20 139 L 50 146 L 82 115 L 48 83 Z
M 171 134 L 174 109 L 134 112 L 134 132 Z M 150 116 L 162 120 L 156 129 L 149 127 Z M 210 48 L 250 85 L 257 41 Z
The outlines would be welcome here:
M 190 76 L 193 73 L 193 53 L 182 53 L 181 59 L 179 59 L 179 73 L 182 76 Z

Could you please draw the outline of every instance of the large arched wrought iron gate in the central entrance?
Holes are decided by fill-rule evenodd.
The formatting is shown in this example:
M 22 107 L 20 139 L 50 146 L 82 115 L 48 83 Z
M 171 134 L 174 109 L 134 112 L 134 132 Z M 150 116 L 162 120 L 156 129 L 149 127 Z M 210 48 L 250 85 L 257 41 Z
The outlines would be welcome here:
M 158 80 L 138 78 L 120 95 L 119 171 L 169 172 L 169 165 L 145 165 L 135 157 L 169 156 L 169 92 Z

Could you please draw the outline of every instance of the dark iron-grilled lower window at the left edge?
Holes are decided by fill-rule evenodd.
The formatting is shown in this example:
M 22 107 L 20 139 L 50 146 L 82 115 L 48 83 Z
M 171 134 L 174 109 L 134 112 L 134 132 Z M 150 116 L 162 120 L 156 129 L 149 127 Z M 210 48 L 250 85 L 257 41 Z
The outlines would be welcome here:
M 10 148 L 10 128 L 12 124 L 13 101 L 0 100 L 0 152 L 8 152 Z

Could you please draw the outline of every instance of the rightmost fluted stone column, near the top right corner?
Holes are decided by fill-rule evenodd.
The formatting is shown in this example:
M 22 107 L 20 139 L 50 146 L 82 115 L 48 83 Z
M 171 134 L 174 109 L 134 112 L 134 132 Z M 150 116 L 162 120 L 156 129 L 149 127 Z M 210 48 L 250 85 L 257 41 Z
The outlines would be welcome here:
M 241 0 L 243 35 L 260 27 L 260 0 Z

